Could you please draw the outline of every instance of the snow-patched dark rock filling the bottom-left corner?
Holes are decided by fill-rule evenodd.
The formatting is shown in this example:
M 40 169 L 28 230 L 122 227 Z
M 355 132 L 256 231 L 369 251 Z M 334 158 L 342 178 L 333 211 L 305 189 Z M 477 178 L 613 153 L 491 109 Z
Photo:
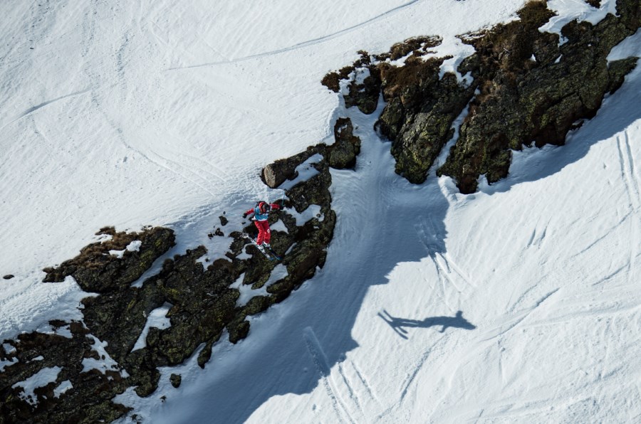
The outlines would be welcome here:
M 80 322 L 58 324 L 68 324 L 71 338 L 33 332 L 21 334 L 16 341 L 4 341 L 13 348 L 11 352 L 0 344 L 0 360 L 16 361 L 0 373 L 1 423 L 110 422 L 127 412 L 124 406 L 110 402 L 115 393 L 127 388 L 120 370 L 83 371 L 83 361 L 99 359 L 89 330 Z M 56 366 L 61 369 L 56 381 L 36 388 L 35 398 L 27 401 L 24 388 L 12 388 L 38 371 Z M 71 383 L 71 388 L 56 396 L 54 391 L 64 382 Z

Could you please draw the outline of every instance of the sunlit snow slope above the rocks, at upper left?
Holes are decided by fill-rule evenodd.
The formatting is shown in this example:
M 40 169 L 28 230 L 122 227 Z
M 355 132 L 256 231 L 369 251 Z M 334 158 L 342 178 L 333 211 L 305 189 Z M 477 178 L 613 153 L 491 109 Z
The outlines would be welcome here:
M 40 270 L 98 228 L 190 228 L 181 253 L 222 211 L 267 196 L 262 166 L 330 136 L 337 100 L 319 81 L 360 48 L 425 28 L 453 39 L 521 4 L 4 4 L 0 273 L 16 277 L 0 334 L 75 309 L 73 285 L 42 287 Z

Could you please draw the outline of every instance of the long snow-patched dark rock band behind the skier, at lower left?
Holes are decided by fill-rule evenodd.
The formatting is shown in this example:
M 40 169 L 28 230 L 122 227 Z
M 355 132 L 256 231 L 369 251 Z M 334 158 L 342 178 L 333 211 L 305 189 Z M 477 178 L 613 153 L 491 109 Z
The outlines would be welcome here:
M 65 336 L 33 332 L 0 344 L 0 364 L 6 364 L 0 372 L 0 423 L 115 420 L 127 413 L 127 408 L 114 403 L 114 396 L 129 387 L 139 396 L 149 396 L 160 380 L 158 367 L 181 364 L 194 354 L 204 367 L 224 330 L 232 343 L 248 336 L 246 317 L 285 300 L 325 264 L 325 249 L 336 222 L 329 192 L 330 165 L 353 166 L 360 149 L 360 139 L 353 135 L 349 120 L 339 120 L 335 134 L 332 146 L 318 144 L 266 167 L 275 170 L 275 184 L 284 181 L 283 176 L 296 176 L 296 167 L 312 155 L 322 157 L 313 164 L 318 173 L 287 190 L 286 208 L 270 216 L 271 223 L 280 219 L 287 228 L 287 232 L 272 232 L 272 247 L 288 252 L 279 263 L 266 260 L 236 231 L 229 238 L 228 259 L 204 268 L 198 260 L 207 249 L 199 246 L 166 259 L 160 272 L 140 282 L 137 280 L 152 263 L 174 246 L 174 232 L 146 228 L 140 233 L 125 233 L 109 227 L 98 233 L 105 238 L 102 242 L 86 246 L 80 255 L 58 267 L 47 268 L 45 282 L 61 282 L 71 275 L 83 290 L 97 295 L 83 299 L 83 322 L 50 323 L 53 329 L 66 329 Z M 293 211 L 301 213 L 311 205 L 319 207 L 318 214 L 297 226 Z M 221 225 L 226 225 L 226 218 L 220 218 Z M 243 230 L 256 232 L 253 223 Z M 251 255 L 249 259 L 238 258 L 244 250 Z M 270 282 L 268 295 L 239 304 L 240 292 L 230 286 L 244 275 L 241 284 L 253 290 L 264 287 L 277 265 L 285 266 L 287 275 Z M 147 317 L 163 305 L 169 307 L 166 316 L 171 325 L 151 327 L 146 346 L 132 350 Z M 90 359 L 112 365 L 91 369 L 86 366 Z M 26 398 L 16 383 L 52 367 L 60 369 L 55 381 Z M 181 377 L 172 374 L 170 383 L 178 387 Z

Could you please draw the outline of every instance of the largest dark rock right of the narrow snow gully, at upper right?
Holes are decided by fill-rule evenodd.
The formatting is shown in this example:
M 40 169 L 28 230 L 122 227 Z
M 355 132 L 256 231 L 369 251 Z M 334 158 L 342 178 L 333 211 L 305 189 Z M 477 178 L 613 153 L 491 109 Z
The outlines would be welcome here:
M 618 2 L 626 4 L 636 4 L 638 15 L 637 0 Z M 561 46 L 556 34 L 538 31 L 551 17 L 545 3 L 531 3 L 519 16 L 521 21 L 468 41 L 477 51 L 472 74 L 481 94 L 438 171 L 457 179 L 463 193 L 476 191 L 481 174 L 490 184 L 504 178 L 511 149 L 563 144 L 575 122 L 594 117 L 603 97 L 617 90 L 637 63 L 636 58 L 607 61 L 610 50 L 636 29 L 626 26 L 627 16 L 608 15 L 595 26 L 570 22 Z

